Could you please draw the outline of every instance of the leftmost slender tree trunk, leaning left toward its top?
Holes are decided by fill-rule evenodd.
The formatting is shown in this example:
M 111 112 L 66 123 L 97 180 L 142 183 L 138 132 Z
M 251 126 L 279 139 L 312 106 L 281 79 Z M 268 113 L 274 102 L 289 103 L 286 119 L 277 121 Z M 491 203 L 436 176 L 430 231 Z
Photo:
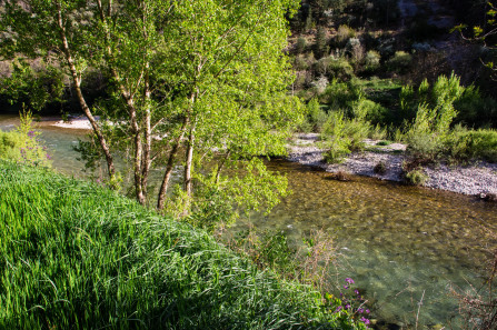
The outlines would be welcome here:
M 59 8 L 58 8 L 58 23 L 59 23 L 59 28 L 60 28 L 60 38 L 62 41 L 63 53 L 66 57 L 66 61 L 68 62 L 69 70 L 71 71 L 72 84 L 74 86 L 74 90 L 76 90 L 76 94 L 78 96 L 79 104 L 80 104 L 82 111 L 85 112 L 85 116 L 90 121 L 93 132 L 100 142 L 100 147 L 102 148 L 103 154 L 106 156 L 109 179 L 110 179 L 111 183 L 115 183 L 116 182 L 116 167 L 113 166 L 113 158 L 110 152 L 110 148 L 107 144 L 106 138 L 103 137 L 103 133 L 102 133 L 99 124 L 97 123 L 93 114 L 91 113 L 91 110 L 88 107 L 87 101 L 85 100 L 85 97 L 82 94 L 81 79 L 78 77 L 78 70 L 76 69 L 76 64 L 72 59 L 71 51 L 69 49 L 69 42 L 68 42 L 68 39 L 66 36 L 66 28 L 63 26 L 62 10 L 60 8 L 60 3 L 59 3 Z

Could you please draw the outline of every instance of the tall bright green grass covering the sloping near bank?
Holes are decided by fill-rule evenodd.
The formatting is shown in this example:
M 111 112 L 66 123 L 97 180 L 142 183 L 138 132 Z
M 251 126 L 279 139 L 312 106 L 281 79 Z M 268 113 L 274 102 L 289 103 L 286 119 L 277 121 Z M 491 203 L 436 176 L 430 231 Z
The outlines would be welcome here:
M 352 327 L 319 293 L 95 183 L 0 161 L 0 329 Z

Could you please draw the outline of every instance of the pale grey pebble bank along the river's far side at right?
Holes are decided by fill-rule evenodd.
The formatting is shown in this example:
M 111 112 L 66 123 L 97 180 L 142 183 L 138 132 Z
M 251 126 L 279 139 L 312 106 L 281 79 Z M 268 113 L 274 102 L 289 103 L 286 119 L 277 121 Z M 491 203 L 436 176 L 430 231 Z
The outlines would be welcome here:
M 346 172 L 357 176 L 374 177 L 380 180 L 401 181 L 402 162 L 406 160 L 406 146 L 391 143 L 388 146 L 375 144 L 366 141 L 367 151 L 354 152 L 341 163 L 326 163 L 325 150 L 318 146 L 318 134 L 298 134 L 289 150 L 288 160 L 301 164 L 321 168 L 327 172 Z M 386 171 L 376 173 L 375 167 L 384 163 Z M 424 187 L 441 189 L 463 194 L 497 194 L 497 164 L 484 161 L 468 166 L 448 166 L 439 163 L 425 167 L 425 174 L 429 177 Z

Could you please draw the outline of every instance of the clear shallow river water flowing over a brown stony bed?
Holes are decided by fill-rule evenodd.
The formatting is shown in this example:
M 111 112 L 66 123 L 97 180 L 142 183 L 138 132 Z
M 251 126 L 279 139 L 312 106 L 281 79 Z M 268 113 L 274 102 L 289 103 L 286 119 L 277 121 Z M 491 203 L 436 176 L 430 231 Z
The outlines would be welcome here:
M 0 117 L 0 129 L 16 119 Z M 52 153 L 53 168 L 81 176 L 82 163 L 72 150 L 83 132 L 42 123 L 41 138 Z M 351 277 L 369 301 L 376 317 L 390 323 L 414 323 L 420 307 L 424 324 L 447 324 L 457 312 L 450 286 L 479 283 L 479 261 L 497 247 L 497 204 L 456 193 L 404 187 L 370 178 L 334 181 L 329 174 L 288 161 L 270 168 L 287 173 L 294 193 L 270 214 L 252 214 L 233 230 L 251 222 L 264 230 L 284 230 L 299 239 L 311 229 L 335 237 L 346 257 L 342 277 Z M 456 327 L 457 328 L 457 327 Z

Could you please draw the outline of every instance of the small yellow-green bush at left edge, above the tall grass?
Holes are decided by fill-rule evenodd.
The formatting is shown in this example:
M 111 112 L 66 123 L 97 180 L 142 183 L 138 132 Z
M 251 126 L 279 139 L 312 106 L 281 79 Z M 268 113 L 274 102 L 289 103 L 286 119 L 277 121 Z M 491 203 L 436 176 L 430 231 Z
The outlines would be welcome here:
M 21 113 L 20 124 L 16 130 L 0 131 L 0 159 L 33 167 L 50 167 L 50 156 L 38 138 L 39 134 L 32 124 L 31 112 Z

